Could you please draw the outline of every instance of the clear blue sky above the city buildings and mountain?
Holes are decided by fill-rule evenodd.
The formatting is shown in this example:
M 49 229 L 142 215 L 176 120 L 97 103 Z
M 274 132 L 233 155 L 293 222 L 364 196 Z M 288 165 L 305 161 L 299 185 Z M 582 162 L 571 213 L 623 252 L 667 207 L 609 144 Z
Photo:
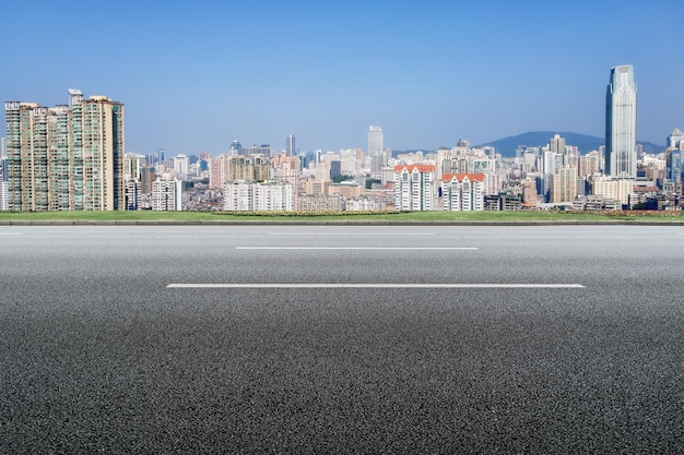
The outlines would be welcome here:
M 603 136 L 610 70 L 633 64 L 638 137 L 664 144 L 684 128 L 683 16 L 681 0 L 0 0 L 0 98 L 109 96 L 138 153 L 280 151 L 287 133 L 365 149 L 372 124 L 433 149 Z

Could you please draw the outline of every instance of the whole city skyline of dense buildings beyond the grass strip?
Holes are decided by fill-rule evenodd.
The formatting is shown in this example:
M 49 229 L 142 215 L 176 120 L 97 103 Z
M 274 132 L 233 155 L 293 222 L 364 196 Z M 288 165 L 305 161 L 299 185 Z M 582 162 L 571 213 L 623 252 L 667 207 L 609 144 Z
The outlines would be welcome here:
M 392 156 L 381 127 L 370 125 L 367 154 L 293 156 L 288 134 L 275 155 L 234 141 L 235 153 L 215 158 L 165 159 L 164 149 L 125 153 L 123 105 L 72 88 L 68 105 L 4 104 L 0 211 L 681 209 L 683 133 L 668 136 L 664 154 L 637 154 L 633 68 L 613 68 L 606 92 L 605 154 L 581 155 L 554 133 L 544 147 L 519 146 L 512 160 L 469 141 Z

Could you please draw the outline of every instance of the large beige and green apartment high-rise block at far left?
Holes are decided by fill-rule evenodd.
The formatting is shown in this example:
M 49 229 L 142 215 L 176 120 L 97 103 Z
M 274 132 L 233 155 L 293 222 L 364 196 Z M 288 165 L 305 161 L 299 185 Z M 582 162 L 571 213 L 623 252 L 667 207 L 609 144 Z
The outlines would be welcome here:
M 15 211 L 125 209 L 123 105 L 5 103 L 8 203 Z

